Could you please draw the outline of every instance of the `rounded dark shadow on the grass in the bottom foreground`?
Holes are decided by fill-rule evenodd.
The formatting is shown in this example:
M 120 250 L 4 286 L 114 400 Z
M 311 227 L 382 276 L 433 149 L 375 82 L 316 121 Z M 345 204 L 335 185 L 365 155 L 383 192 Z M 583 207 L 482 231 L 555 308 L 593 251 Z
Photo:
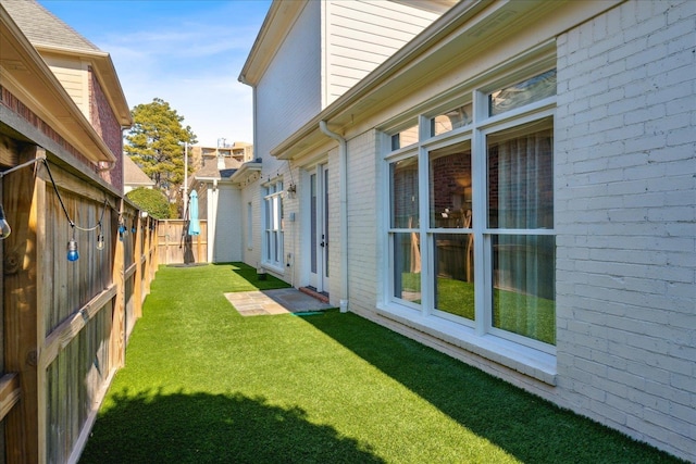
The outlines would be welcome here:
M 378 463 L 330 426 L 244 394 L 115 396 L 80 457 L 87 463 Z M 123 437 L 127 436 L 127 447 Z

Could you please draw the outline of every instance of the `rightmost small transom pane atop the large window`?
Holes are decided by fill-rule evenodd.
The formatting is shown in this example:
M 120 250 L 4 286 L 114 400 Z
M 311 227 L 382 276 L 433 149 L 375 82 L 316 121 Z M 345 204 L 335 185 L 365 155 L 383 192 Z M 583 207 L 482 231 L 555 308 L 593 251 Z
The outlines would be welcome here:
M 488 114 L 505 113 L 556 95 L 556 70 L 488 95 Z

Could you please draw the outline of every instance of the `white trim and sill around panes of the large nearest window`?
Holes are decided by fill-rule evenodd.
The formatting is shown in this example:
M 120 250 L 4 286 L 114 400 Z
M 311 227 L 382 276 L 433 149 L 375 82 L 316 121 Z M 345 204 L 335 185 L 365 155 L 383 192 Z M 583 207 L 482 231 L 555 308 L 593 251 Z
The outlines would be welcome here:
M 531 67 L 533 72 L 538 72 L 538 63 Z M 543 70 L 542 70 L 543 71 Z M 519 76 L 519 73 L 515 73 Z M 487 115 L 487 90 L 499 86 L 502 80 L 496 79 L 487 86 L 480 86 L 481 90 L 469 90 L 464 95 L 452 97 L 449 102 L 443 103 L 438 100 L 436 108 L 430 108 L 419 116 L 420 140 L 398 150 L 391 151 L 391 135 L 401 130 L 405 126 L 412 124 L 413 117 L 409 116 L 408 122 L 400 120 L 400 124 L 393 124 L 387 130 L 382 133 L 381 146 L 383 149 L 384 165 L 382 181 L 382 198 L 385 211 L 391 211 L 390 199 L 390 170 L 389 164 L 415 155 L 419 158 L 419 189 L 428 185 L 427 170 L 422 167 L 427 165 L 427 153 L 439 147 L 447 147 L 467 139 L 471 140 L 472 152 L 486 152 L 486 136 L 494 131 L 504 130 L 529 122 L 538 121 L 545 117 L 554 117 L 556 113 L 556 97 L 549 97 L 534 103 L 511 110 L 496 115 Z M 471 96 L 471 99 L 469 99 Z M 430 118 L 437 114 L 443 108 L 456 105 L 462 101 L 473 102 L 474 118 L 471 124 L 440 134 L 434 137 L 430 135 Z M 478 156 L 480 158 L 480 156 Z M 481 159 L 481 158 L 480 158 Z M 475 166 L 480 160 L 472 159 L 472 184 L 474 188 L 473 202 L 477 211 L 484 211 L 486 204 L 487 178 L 484 166 Z M 484 186 L 485 188 L 482 188 Z M 394 247 L 393 237 L 400 229 L 391 228 L 390 214 L 384 215 L 382 222 L 381 239 L 382 244 L 388 250 L 384 254 L 385 262 L 382 266 L 387 278 L 383 279 L 382 298 L 377 302 L 377 313 L 384 317 L 397 321 L 408 327 L 422 330 L 436 339 L 445 340 L 448 343 L 460 347 L 469 352 L 478 354 L 485 359 L 513 368 L 520 373 L 534 377 L 549 385 L 556 385 L 556 347 L 547 343 L 512 334 L 493 327 L 492 302 L 487 301 L 486 288 L 493 288 L 490 273 L 484 272 L 484 279 L 475 279 L 475 322 L 467 321 L 442 311 L 432 310 L 433 296 L 427 279 L 433 275 L 433 263 L 430 259 L 433 235 L 438 229 L 431 228 L 428 192 L 419 191 L 419 215 L 421 235 L 421 263 L 423 273 L 421 275 L 421 302 L 412 303 L 393 296 L 394 289 Z M 474 234 L 474 268 L 486 269 L 492 266 L 490 240 L 493 235 L 556 235 L 554 229 L 490 229 L 485 221 L 475 221 L 472 227 Z

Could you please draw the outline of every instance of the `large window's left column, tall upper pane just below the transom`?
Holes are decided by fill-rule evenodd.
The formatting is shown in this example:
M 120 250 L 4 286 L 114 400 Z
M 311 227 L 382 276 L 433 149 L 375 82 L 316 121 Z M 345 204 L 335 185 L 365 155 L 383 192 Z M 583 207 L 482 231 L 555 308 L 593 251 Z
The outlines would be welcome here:
M 415 156 L 389 165 L 391 177 L 391 227 L 415 228 L 418 215 L 418 159 Z

